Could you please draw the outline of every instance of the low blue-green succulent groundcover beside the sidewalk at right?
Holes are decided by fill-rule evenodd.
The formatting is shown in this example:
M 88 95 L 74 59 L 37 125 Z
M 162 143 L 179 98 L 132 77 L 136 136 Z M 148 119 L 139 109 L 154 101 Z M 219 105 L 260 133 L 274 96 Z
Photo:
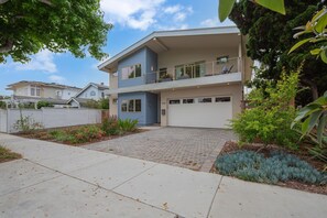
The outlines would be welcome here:
M 265 159 L 257 152 L 237 151 L 218 156 L 215 166 L 222 175 L 244 181 L 270 184 L 287 181 L 327 184 L 327 174 L 318 172 L 295 155 L 281 152 L 272 152 L 270 157 Z

